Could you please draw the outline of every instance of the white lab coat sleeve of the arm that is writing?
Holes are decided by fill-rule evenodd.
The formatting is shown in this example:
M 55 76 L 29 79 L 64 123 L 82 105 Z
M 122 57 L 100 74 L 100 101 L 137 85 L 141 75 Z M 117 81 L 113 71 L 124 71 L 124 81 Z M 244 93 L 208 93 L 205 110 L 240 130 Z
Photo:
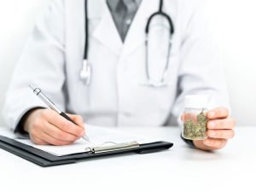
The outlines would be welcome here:
M 57 106 L 65 110 L 64 19 L 62 0 L 53 0 L 38 15 L 32 35 L 15 67 L 3 117 L 15 129 L 22 116 L 32 108 L 47 108 L 32 93 L 29 84 L 36 84 Z

